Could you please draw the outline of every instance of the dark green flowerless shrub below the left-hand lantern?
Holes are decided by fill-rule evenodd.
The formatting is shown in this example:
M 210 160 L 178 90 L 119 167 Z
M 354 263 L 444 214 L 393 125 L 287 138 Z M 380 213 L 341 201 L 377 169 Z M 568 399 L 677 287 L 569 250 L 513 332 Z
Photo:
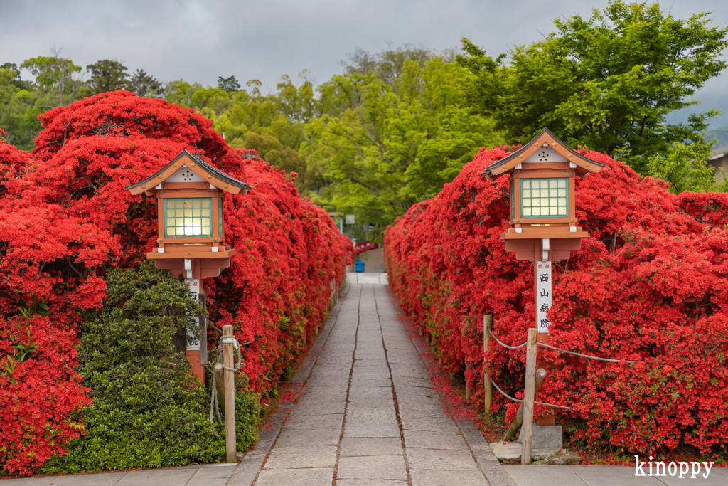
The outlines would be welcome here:
M 111 270 L 103 309 L 82 324 L 79 372 L 93 403 L 79 417 L 87 434 L 49 474 L 183 466 L 225 457 L 223 427 L 209 420 L 209 393 L 190 375 L 173 337 L 204 310 L 187 287 L 150 263 Z M 256 398 L 237 393 L 240 450 L 256 438 Z

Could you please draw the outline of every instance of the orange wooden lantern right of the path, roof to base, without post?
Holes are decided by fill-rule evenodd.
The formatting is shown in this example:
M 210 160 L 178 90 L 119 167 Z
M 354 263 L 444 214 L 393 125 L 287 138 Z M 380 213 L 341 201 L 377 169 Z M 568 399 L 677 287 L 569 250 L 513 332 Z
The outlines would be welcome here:
M 574 178 L 604 166 L 575 152 L 547 128 L 488 165 L 482 175 L 489 181 L 510 178 L 510 227 L 500 235 L 506 250 L 519 260 L 554 262 L 581 248 L 587 233 L 577 227 Z

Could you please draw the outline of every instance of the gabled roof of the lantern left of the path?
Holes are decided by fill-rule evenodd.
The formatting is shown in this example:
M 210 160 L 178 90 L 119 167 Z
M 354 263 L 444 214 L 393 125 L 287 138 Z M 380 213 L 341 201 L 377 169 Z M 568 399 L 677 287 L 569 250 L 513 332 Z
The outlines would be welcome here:
M 157 187 L 162 182 L 170 179 L 176 173 L 183 171 L 186 176 L 183 176 L 183 181 L 195 182 L 202 181 L 210 184 L 210 187 L 217 187 L 224 192 L 230 192 L 231 194 L 238 194 L 242 192 L 248 192 L 251 187 L 245 184 L 243 181 L 238 181 L 226 173 L 219 171 L 209 163 L 205 162 L 202 157 L 198 154 L 191 154 L 186 150 L 180 152 L 170 163 L 165 165 L 160 171 L 152 174 L 151 176 L 138 181 L 136 184 L 127 186 L 126 189 L 133 195 L 141 194 L 142 192 L 148 192 L 153 194 L 157 192 Z M 179 178 L 176 178 L 179 179 Z

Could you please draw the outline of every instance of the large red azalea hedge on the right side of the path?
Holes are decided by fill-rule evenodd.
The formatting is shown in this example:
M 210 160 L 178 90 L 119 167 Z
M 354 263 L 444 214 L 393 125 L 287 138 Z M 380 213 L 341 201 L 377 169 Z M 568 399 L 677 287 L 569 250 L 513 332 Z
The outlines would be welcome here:
M 507 178 L 487 165 L 516 147 L 481 149 L 452 184 L 387 230 L 389 283 L 449 371 L 467 362 L 482 398 L 483 364 L 511 396 L 522 396 L 525 352 L 491 340 L 483 359 L 483 315 L 494 334 L 521 344 L 534 325 L 533 264 L 505 251 Z M 606 167 L 577 179 L 582 249 L 554 267 L 551 344 L 615 364 L 539 348 L 550 367 L 537 400 L 574 407 L 577 439 L 614 451 L 656 452 L 728 443 L 728 197 L 670 194 L 628 166 L 584 152 Z M 491 412 L 518 404 L 495 393 Z M 480 401 L 482 403 L 482 401 Z M 537 406 L 544 415 L 549 409 Z M 558 412 L 562 415 L 565 412 Z

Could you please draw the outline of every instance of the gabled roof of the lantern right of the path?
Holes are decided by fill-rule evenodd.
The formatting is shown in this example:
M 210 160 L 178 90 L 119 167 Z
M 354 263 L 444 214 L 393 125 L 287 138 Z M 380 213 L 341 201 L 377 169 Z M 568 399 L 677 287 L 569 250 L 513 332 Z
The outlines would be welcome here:
M 541 154 L 537 153 L 539 150 L 542 151 Z M 574 151 L 556 138 L 548 128 L 544 128 L 528 144 L 523 145 L 513 154 L 488 165 L 481 176 L 485 176 L 489 181 L 492 181 L 506 173 L 513 173 L 515 169 L 523 168 L 522 163 L 534 162 L 570 162 L 569 165 L 574 168 L 574 172 L 579 177 L 585 177 L 591 172 L 599 172 L 601 168 L 605 167 L 605 164 L 591 160 Z

